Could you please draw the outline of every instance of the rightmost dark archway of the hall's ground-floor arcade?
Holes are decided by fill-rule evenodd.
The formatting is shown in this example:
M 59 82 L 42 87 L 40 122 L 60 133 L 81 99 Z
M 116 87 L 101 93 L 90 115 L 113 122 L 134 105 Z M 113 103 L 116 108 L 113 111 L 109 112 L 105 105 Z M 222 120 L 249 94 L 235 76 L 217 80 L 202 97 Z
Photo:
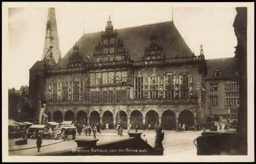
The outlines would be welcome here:
M 187 130 L 191 129 L 191 126 L 194 126 L 194 117 L 193 113 L 189 110 L 183 110 L 179 114 L 179 123 L 185 124 L 187 127 Z

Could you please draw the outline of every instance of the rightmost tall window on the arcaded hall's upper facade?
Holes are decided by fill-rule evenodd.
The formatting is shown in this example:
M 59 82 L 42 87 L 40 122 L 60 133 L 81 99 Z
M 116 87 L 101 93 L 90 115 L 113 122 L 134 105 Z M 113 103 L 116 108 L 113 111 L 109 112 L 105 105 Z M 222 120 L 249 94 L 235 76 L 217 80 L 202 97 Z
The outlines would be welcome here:
M 189 95 L 189 79 L 188 74 L 180 75 L 180 98 L 188 98 Z

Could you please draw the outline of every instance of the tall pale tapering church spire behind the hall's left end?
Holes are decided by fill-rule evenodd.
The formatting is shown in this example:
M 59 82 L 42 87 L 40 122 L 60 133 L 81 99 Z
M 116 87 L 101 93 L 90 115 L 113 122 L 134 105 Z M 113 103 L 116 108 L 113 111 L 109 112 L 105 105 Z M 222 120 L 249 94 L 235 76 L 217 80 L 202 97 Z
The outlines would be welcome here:
M 55 17 L 55 9 L 48 8 L 45 44 L 42 54 L 42 60 L 44 60 L 47 65 L 55 65 L 60 61 L 60 59 L 61 54 L 59 50 L 59 38 L 57 21 Z

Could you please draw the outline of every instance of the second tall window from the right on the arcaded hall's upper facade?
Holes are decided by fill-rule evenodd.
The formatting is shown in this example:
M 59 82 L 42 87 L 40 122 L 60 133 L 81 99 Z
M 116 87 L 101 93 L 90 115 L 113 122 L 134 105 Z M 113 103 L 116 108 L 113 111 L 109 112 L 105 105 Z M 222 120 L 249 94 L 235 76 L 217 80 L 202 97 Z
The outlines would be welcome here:
M 174 75 L 166 74 L 164 76 L 164 98 L 174 98 Z

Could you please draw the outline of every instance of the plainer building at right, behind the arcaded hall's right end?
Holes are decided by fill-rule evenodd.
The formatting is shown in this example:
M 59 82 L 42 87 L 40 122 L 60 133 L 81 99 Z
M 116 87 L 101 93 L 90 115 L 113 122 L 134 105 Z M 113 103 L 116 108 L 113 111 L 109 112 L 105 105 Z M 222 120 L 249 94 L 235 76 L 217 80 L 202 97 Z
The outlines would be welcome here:
M 240 104 L 239 70 L 236 58 L 208 59 L 206 85 L 206 122 L 238 120 Z

